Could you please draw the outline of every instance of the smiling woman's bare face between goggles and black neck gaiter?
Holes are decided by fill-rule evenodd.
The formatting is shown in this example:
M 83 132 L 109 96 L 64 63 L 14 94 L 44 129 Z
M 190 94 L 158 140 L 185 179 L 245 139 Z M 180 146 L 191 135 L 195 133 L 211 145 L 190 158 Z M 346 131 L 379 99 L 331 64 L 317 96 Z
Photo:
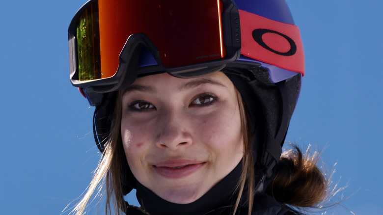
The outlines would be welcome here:
M 137 79 L 122 94 L 121 134 L 137 180 L 178 204 L 200 198 L 244 154 L 235 87 L 222 72 Z

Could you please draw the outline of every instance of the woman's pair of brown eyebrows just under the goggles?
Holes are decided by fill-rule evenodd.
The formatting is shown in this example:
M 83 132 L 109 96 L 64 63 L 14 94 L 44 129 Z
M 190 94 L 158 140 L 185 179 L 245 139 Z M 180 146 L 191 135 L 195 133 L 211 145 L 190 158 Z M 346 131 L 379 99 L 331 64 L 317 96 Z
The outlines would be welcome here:
M 195 81 L 186 82 L 186 83 L 182 84 L 178 88 L 178 90 L 179 91 L 183 91 L 183 90 L 195 88 L 197 86 L 200 86 L 200 85 L 206 84 L 206 83 L 210 83 L 210 84 L 226 87 L 224 84 L 222 84 L 222 83 L 220 83 L 218 81 L 214 81 L 214 80 L 208 79 L 208 78 L 203 78 L 203 79 L 198 79 L 198 80 L 195 80 Z M 148 92 L 148 93 L 155 93 L 155 92 L 157 92 L 156 89 L 154 89 L 154 88 L 152 88 L 150 86 L 144 86 L 144 85 L 135 84 L 135 85 L 131 85 L 131 86 L 123 89 L 122 90 L 122 95 L 125 94 L 126 92 L 132 92 L 132 91 L 140 91 L 140 92 Z

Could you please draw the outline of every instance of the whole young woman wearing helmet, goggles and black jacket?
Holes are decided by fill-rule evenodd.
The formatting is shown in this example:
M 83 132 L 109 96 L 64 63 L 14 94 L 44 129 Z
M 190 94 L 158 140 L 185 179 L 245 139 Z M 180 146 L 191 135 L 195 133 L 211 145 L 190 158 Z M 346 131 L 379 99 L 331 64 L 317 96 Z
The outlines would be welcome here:
M 324 199 L 316 158 L 281 157 L 304 74 L 284 0 L 90 0 L 68 32 L 103 153 L 74 213 L 103 179 L 107 214 L 288 215 Z

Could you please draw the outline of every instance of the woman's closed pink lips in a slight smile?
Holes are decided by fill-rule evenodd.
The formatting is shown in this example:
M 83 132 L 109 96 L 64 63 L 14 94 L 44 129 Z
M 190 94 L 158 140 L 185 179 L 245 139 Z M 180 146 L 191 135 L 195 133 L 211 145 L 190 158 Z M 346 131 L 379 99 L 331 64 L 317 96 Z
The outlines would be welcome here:
M 152 165 L 154 170 L 168 179 L 187 177 L 204 166 L 201 161 L 165 161 Z

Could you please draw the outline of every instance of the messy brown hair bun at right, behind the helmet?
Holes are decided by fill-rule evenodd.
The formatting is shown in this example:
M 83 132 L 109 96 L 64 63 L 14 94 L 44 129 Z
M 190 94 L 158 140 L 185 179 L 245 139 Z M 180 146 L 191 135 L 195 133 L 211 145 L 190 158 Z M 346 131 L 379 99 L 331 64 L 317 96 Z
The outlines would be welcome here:
M 314 207 L 326 198 L 328 187 L 318 168 L 319 153 L 303 155 L 297 146 L 285 151 L 277 166 L 267 193 L 276 201 L 297 207 Z

